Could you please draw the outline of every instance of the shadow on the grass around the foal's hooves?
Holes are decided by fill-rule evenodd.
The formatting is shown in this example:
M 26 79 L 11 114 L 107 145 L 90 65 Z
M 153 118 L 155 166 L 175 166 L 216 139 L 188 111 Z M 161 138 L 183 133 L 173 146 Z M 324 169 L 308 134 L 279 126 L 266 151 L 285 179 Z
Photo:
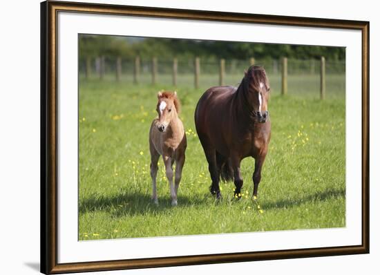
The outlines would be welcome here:
M 120 193 L 113 197 L 92 197 L 79 202 L 79 214 L 86 212 L 106 211 L 113 216 L 135 216 L 139 214 L 158 214 L 162 211 L 171 211 L 185 207 L 197 207 L 199 205 L 210 205 L 213 198 L 209 194 L 189 198 L 178 194 L 178 205 L 171 206 L 170 196 L 158 198 L 158 205 L 153 203 L 151 196 L 146 193 Z

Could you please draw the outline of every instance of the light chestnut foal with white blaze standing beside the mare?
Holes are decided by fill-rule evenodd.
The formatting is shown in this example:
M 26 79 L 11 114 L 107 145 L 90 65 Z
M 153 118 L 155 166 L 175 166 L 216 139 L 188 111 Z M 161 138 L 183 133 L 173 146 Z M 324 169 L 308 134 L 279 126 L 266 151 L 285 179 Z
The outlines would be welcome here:
M 177 205 L 178 186 L 180 184 L 184 151 L 187 140 L 183 124 L 178 117 L 180 101 L 177 93 L 158 92 L 158 118 L 155 118 L 149 131 L 149 151 L 151 152 L 152 199 L 158 204 L 155 178 L 158 171 L 158 159 L 162 155 L 169 180 L 171 205 Z M 173 186 L 173 164 L 175 162 L 175 186 Z

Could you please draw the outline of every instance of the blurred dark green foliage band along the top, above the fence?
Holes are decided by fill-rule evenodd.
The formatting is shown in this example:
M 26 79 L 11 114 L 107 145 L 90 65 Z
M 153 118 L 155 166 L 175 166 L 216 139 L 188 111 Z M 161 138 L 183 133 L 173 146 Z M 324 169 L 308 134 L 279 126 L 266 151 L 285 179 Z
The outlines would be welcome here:
M 288 44 L 262 44 L 234 41 L 207 41 L 193 39 L 113 37 L 109 35 L 81 35 L 79 37 L 81 58 L 98 55 L 132 58 L 189 58 L 202 59 L 249 59 L 298 58 L 344 60 L 345 48 L 326 46 L 302 46 Z

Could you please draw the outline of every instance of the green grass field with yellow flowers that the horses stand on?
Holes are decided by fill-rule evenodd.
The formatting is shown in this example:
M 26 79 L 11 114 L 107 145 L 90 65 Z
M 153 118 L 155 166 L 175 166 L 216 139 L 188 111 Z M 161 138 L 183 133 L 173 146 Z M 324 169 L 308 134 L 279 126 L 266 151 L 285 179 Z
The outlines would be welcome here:
M 285 97 L 273 90 L 272 141 L 257 202 L 251 200 L 251 158 L 242 162 L 243 199 L 233 198 L 228 182 L 220 185 L 223 200 L 215 202 L 193 122 L 205 89 L 176 88 L 188 146 L 178 207 L 171 207 L 162 160 L 160 205 L 151 202 L 148 141 L 156 93 L 173 87 L 81 79 L 79 240 L 345 227 L 345 97 L 334 91 L 341 82 L 333 77 L 322 102 L 318 92 L 307 93 L 313 81 L 294 79 L 305 95 L 292 93 L 291 85 Z

